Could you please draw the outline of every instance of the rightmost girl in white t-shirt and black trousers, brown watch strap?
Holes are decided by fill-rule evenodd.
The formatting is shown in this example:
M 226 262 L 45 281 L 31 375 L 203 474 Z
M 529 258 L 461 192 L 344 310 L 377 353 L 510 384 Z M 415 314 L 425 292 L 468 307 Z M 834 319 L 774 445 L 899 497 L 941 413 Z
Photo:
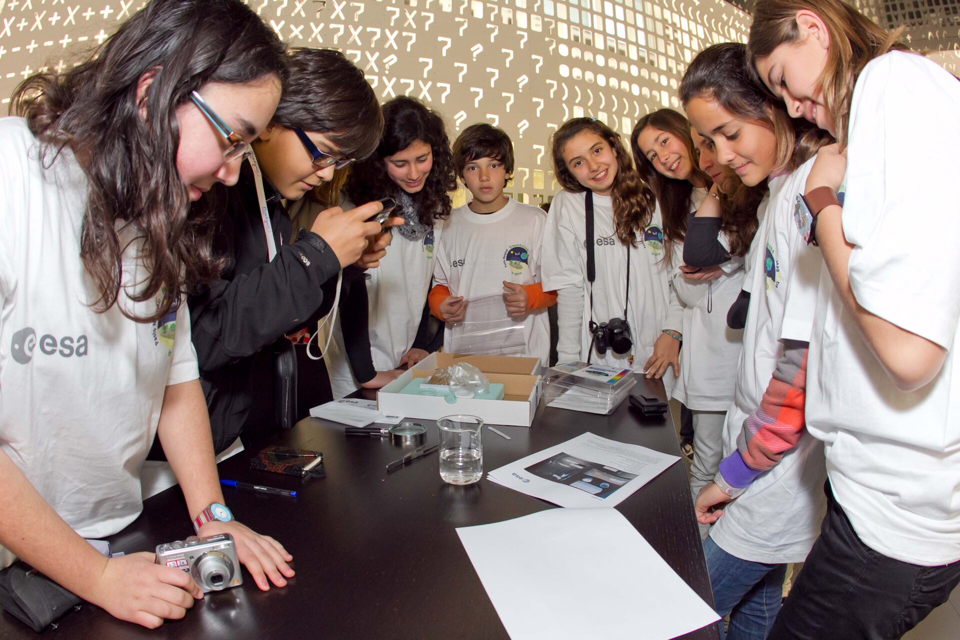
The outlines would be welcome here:
M 838 140 L 804 185 L 827 267 L 806 428 L 828 513 L 778 638 L 900 637 L 960 582 L 960 83 L 893 41 L 834 0 L 760 2 L 751 29 L 757 77 Z

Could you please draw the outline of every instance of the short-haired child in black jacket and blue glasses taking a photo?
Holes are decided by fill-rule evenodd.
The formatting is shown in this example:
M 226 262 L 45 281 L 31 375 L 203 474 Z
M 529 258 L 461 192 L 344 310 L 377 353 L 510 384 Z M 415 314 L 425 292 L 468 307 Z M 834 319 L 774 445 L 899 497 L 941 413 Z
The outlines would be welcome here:
M 332 179 L 337 167 L 372 154 L 382 129 L 380 106 L 363 72 L 338 51 L 296 50 L 273 120 L 252 142 L 237 184 L 198 203 L 214 208 L 224 199 L 227 209 L 214 236 L 223 270 L 189 298 L 216 451 L 241 434 L 244 441 L 259 439 L 296 419 L 277 414 L 293 404 L 284 390 L 297 380 L 295 373 L 286 378 L 289 387 L 275 384 L 283 370 L 296 370 L 283 367 L 296 357 L 284 336 L 301 328 L 312 334 L 330 311 L 337 274 L 367 250 L 367 235 L 381 232 L 380 225 L 366 222 L 380 204 L 330 208 L 296 236 L 286 207 Z M 364 266 L 382 255 L 377 243 L 388 241 L 385 233 L 374 239 Z M 341 285 L 342 301 L 351 301 L 351 326 L 366 325 L 363 280 L 353 286 L 361 275 L 350 267 Z M 362 300 L 354 301 L 357 296 Z M 369 342 L 350 353 L 363 381 L 371 380 L 376 372 Z

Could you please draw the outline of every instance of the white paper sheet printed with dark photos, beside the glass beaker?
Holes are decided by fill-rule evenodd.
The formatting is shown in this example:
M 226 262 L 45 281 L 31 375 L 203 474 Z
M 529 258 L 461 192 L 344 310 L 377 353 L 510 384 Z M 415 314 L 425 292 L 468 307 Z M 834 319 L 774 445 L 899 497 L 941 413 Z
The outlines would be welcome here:
M 677 456 L 586 433 L 493 469 L 493 482 L 561 507 L 615 507 Z

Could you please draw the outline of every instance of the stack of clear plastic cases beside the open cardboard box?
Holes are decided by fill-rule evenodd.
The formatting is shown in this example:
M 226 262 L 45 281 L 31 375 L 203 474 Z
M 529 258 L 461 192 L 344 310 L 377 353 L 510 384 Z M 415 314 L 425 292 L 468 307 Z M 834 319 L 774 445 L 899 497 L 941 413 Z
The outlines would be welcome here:
M 543 398 L 550 407 L 611 414 L 636 384 L 629 368 L 566 363 L 543 374 Z

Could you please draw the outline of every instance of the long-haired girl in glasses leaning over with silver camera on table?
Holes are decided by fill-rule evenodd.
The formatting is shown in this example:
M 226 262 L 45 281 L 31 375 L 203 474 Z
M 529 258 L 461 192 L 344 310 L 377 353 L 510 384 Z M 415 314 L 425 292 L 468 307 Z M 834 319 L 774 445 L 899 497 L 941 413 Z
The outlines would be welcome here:
M 236 181 L 284 75 L 283 45 L 240 2 L 154 0 L 94 58 L 22 83 L 20 117 L 0 120 L 0 544 L 145 627 L 183 617 L 197 584 L 84 538 L 139 515 L 155 436 L 199 535 L 230 533 L 261 589 L 294 575 L 222 507 L 183 296 L 216 272 L 189 203 Z

